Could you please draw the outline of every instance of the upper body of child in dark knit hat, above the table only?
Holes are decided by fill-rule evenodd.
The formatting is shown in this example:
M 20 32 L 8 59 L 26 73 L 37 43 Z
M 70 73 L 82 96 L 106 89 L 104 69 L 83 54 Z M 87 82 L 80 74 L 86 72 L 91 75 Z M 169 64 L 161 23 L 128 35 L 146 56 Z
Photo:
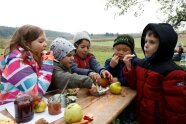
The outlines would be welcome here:
M 105 61 L 105 68 L 117 77 L 122 86 L 127 86 L 127 82 L 123 77 L 122 68 L 124 67 L 123 58 L 127 54 L 134 54 L 134 39 L 130 35 L 119 35 L 113 44 L 114 54 L 112 58 Z

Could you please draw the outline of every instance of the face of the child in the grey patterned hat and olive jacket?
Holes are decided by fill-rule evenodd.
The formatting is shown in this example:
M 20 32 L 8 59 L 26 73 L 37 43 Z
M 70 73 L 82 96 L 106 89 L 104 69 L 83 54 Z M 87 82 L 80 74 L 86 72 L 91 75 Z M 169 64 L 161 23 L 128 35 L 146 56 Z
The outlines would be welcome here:
M 67 54 L 63 59 L 61 59 L 60 63 L 66 68 L 70 68 L 72 63 L 74 62 L 74 51 L 71 51 Z

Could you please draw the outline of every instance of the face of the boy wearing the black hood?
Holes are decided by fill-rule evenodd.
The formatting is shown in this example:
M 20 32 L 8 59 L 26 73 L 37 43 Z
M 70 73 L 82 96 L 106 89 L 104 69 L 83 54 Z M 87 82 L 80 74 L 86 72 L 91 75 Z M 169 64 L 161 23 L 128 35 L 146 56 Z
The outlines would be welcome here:
M 144 51 L 147 58 L 151 57 L 159 47 L 159 39 L 154 37 L 154 35 L 146 35 Z

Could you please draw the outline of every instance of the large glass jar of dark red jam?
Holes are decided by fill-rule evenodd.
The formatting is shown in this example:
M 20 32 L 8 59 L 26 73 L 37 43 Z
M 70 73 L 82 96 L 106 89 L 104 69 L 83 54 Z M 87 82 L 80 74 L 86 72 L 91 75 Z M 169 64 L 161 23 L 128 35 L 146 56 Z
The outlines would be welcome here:
M 32 98 L 28 94 L 19 94 L 14 101 L 14 107 L 17 123 L 24 123 L 33 119 Z

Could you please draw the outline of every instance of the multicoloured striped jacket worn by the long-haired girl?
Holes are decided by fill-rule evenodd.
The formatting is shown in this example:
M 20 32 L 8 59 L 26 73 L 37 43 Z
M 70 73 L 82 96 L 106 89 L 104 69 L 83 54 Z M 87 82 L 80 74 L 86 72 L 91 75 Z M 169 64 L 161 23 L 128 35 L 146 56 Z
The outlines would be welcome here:
M 50 85 L 52 71 L 53 61 L 43 61 L 37 73 L 33 66 L 24 63 L 22 58 L 13 58 L 4 69 L 6 79 L 2 78 L 3 92 L 15 95 L 19 92 L 44 94 Z

